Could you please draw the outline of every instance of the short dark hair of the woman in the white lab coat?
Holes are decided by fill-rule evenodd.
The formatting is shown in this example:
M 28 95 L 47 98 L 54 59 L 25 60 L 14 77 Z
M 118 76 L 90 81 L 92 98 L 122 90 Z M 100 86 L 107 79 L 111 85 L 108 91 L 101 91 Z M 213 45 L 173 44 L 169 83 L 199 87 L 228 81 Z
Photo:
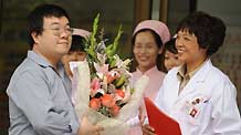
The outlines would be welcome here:
M 207 49 L 207 55 L 209 56 L 218 51 L 226 37 L 226 25 L 221 19 L 201 11 L 186 17 L 179 23 L 178 31 L 188 31 L 190 34 L 195 34 L 200 48 Z

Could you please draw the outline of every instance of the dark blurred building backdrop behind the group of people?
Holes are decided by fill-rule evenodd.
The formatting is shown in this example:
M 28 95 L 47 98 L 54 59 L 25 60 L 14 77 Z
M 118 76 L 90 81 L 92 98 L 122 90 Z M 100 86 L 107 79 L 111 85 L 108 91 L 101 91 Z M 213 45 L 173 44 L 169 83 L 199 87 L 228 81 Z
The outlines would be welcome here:
M 196 10 L 220 17 L 228 31 L 223 46 L 213 55 L 213 63 L 228 74 L 238 90 L 241 110 L 241 1 L 240 0 L 0 0 L 0 135 L 8 135 L 8 97 L 6 89 L 14 69 L 24 59 L 27 15 L 40 3 L 55 3 L 67 10 L 74 28 L 92 31 L 92 22 L 101 14 L 99 28 L 113 39 L 123 24 L 118 53 L 133 58 L 130 38 L 142 20 L 155 19 L 167 23 L 174 35 L 178 22 Z

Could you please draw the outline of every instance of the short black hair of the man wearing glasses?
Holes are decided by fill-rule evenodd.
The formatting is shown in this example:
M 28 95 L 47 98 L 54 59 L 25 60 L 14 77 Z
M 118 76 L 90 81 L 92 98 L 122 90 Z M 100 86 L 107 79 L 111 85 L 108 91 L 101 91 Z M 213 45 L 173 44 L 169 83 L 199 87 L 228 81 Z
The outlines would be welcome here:
M 66 17 L 70 20 L 67 12 L 59 6 L 46 4 L 46 3 L 38 6 L 35 9 L 32 10 L 32 12 L 30 12 L 28 17 L 29 19 L 28 38 L 31 48 L 34 44 L 34 40 L 31 37 L 31 33 L 36 32 L 38 35 L 42 34 L 43 19 L 50 17 L 55 17 L 55 18 Z

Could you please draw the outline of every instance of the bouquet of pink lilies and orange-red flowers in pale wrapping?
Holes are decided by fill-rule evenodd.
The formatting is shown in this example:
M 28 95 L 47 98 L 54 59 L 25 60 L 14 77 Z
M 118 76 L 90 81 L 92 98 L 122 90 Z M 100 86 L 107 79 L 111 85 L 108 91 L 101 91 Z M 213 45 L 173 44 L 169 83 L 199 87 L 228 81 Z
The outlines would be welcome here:
M 106 46 L 103 31 L 96 38 L 98 18 L 95 18 L 92 34 L 86 39 L 86 61 L 78 62 L 74 70 L 75 111 L 80 118 L 86 115 L 91 123 L 104 127 L 102 135 L 123 135 L 128 128 L 126 121 L 138 112 L 148 77 L 144 75 L 132 84 L 130 60 L 122 60 L 116 54 L 122 27 L 114 42 Z

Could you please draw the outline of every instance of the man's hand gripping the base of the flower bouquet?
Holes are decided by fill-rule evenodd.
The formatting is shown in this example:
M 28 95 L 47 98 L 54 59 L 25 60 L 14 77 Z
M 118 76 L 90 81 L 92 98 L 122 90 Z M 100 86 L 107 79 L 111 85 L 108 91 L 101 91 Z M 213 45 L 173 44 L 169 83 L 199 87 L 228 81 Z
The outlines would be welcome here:
M 88 118 L 83 116 L 77 135 L 101 135 L 103 129 L 103 127 L 91 124 Z

